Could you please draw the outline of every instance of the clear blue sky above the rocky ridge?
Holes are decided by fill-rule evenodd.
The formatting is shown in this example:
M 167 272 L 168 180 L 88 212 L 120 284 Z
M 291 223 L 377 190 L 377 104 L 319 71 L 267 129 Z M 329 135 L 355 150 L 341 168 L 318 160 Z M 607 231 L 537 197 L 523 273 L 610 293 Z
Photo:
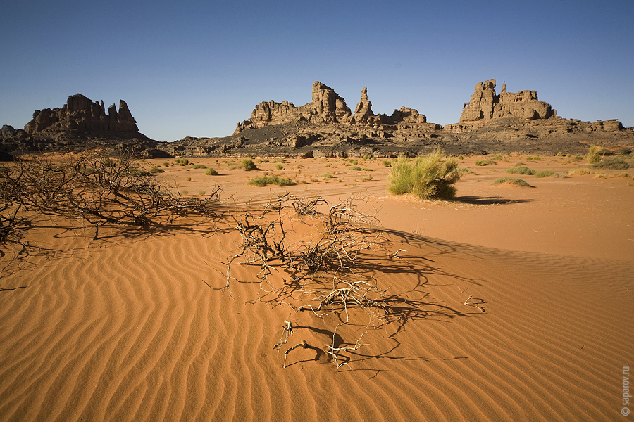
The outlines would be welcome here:
M 217 3 L 217 4 L 216 4 Z M 413 107 L 458 122 L 475 84 L 634 126 L 634 1 L 4 1 L 0 124 L 81 93 L 159 141 L 226 136 L 261 101 Z

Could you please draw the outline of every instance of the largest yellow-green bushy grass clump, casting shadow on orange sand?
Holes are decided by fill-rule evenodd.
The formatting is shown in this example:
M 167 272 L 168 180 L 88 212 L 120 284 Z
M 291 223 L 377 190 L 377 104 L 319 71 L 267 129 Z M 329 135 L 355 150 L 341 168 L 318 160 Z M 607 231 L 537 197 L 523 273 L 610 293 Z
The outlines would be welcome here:
M 399 157 L 390 169 L 387 190 L 395 195 L 414 193 L 421 199 L 453 198 L 460 179 L 456 160 L 445 157 L 440 149 L 418 157 L 414 162 Z

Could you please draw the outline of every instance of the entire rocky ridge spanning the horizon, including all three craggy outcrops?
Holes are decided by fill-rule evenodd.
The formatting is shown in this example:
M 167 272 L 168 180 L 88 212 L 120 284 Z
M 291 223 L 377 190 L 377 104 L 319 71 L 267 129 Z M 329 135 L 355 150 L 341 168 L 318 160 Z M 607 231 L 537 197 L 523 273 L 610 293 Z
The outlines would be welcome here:
M 607 148 L 634 146 L 634 131 L 617 120 L 583 122 L 564 119 L 537 92 L 495 92 L 491 79 L 478 82 L 460 121 L 444 127 L 427 121 L 418 110 L 402 106 L 392 115 L 375 114 L 363 88 L 354 113 L 342 96 L 314 82 L 311 102 L 262 102 L 251 117 L 222 138 L 186 137 L 174 142 L 148 139 L 138 131 L 125 101 L 119 109 L 77 94 L 62 108 L 36 110 L 25 130 L 0 129 L 0 151 L 69 151 L 87 146 L 133 148 L 154 156 L 417 155 L 433 148 L 451 154 L 583 153 L 590 144 Z

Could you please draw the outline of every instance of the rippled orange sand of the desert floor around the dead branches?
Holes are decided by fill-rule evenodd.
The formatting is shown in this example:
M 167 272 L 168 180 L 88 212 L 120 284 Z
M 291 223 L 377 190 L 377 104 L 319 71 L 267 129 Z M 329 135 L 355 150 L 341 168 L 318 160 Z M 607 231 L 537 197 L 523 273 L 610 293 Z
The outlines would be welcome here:
M 634 365 L 634 172 L 535 178 L 504 170 L 588 164 L 483 159 L 459 160 L 475 174 L 452 201 L 389 195 L 383 159 L 352 170 L 349 159 L 260 157 L 245 172 L 230 170 L 240 158 L 189 158 L 218 176 L 149 160 L 183 196 L 221 186 L 216 217 L 107 227 L 96 241 L 81 222 L 41 217 L 30 255 L 0 258 L 0 421 L 619 420 Z M 297 184 L 247 184 L 263 172 Z M 492 186 L 502 176 L 534 187 Z M 273 299 L 290 275 L 262 286 L 249 265 L 232 266 L 223 290 L 240 245 L 231 228 L 287 192 L 352 198 L 376 218 L 380 243 L 354 277 L 387 289 L 389 315 L 351 307 L 339 325 L 342 309 L 298 311 L 287 303 L 306 288 Z M 284 218 L 298 242 L 318 233 L 318 217 Z M 285 320 L 294 334 L 274 350 Z M 338 369 L 323 352 L 361 336 Z M 283 367 L 302 340 L 315 347 Z

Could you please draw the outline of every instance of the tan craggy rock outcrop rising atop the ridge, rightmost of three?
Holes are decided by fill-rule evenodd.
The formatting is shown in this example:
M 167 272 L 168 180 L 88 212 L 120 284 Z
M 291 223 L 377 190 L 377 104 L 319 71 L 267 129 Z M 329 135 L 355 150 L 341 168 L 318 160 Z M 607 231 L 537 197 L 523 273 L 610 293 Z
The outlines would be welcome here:
M 504 117 L 521 117 L 526 120 L 547 119 L 557 115 L 550 104 L 537 99 L 536 91 L 506 92 L 506 84 L 502 91 L 495 94 L 495 79 L 478 82 L 471 101 L 464 103 L 461 122 L 479 120 L 495 120 Z

